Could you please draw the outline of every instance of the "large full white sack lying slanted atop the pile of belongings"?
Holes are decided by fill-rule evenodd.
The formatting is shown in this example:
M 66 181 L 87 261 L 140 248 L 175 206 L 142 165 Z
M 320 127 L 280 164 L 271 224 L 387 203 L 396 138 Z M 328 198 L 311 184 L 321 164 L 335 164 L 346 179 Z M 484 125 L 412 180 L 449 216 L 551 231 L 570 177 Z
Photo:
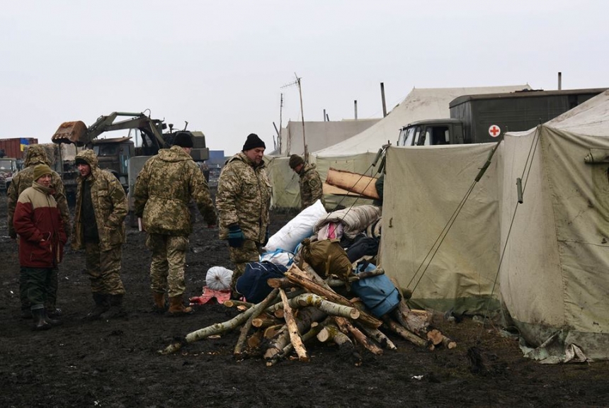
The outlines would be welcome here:
M 302 210 L 296 217 L 292 218 L 288 224 L 284 225 L 278 232 L 273 234 L 268 239 L 268 243 L 264 247 L 267 252 L 273 252 L 275 249 L 284 249 L 285 251 L 294 252 L 296 246 L 300 242 L 310 237 L 313 234 L 313 226 L 320 218 L 326 217 L 328 213 L 321 205 L 321 201 L 317 200 L 313 205 Z

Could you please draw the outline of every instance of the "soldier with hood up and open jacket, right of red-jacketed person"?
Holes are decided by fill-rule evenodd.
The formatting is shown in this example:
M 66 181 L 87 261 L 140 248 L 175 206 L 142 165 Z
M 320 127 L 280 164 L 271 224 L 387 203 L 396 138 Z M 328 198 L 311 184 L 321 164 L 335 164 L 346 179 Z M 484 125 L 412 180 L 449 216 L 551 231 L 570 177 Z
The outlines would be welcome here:
M 74 160 L 79 180 L 74 209 L 72 247 L 85 250 L 95 307 L 88 319 L 125 315 L 120 280 L 120 260 L 125 243 L 127 197 L 118 179 L 98 167 L 93 150 L 83 150 Z

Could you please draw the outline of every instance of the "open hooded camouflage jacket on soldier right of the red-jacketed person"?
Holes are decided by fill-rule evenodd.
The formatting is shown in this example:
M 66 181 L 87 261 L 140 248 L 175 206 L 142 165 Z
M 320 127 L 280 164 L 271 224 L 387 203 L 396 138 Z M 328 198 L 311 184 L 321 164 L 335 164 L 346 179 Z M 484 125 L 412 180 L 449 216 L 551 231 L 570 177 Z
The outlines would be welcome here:
M 76 159 L 84 159 L 91 166 L 91 174 L 84 179 L 79 176 L 76 192 L 76 208 L 74 208 L 74 234 L 72 248 L 84 248 L 84 232 L 82 225 L 82 193 L 84 183 L 91 184 L 91 202 L 99 234 L 99 248 L 109 251 L 113 246 L 125 242 L 125 217 L 127 216 L 127 196 L 120 181 L 110 171 L 98 166 L 97 157 L 93 150 L 83 150 L 76 154 Z

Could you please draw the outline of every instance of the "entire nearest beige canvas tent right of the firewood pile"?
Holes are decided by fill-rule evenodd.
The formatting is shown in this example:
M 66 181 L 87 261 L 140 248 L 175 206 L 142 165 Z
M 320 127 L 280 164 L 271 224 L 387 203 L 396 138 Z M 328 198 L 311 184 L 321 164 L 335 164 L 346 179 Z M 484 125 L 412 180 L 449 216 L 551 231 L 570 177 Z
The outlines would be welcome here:
M 492 147 L 387 149 L 381 266 L 417 307 L 492 314 L 503 304 L 528 344 L 547 344 L 536 354 L 546 362 L 575 346 L 608 359 L 609 91 L 508 133 L 473 184 Z

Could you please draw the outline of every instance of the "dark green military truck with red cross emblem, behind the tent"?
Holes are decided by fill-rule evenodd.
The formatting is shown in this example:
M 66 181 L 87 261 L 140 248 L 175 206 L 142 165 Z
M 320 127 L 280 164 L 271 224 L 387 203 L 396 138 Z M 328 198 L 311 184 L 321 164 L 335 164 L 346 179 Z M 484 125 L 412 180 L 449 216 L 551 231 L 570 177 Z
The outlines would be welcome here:
M 450 118 L 419 120 L 399 130 L 398 146 L 496 142 L 501 132 L 518 132 L 556 118 L 605 91 L 523 90 L 466 95 L 450 102 Z

